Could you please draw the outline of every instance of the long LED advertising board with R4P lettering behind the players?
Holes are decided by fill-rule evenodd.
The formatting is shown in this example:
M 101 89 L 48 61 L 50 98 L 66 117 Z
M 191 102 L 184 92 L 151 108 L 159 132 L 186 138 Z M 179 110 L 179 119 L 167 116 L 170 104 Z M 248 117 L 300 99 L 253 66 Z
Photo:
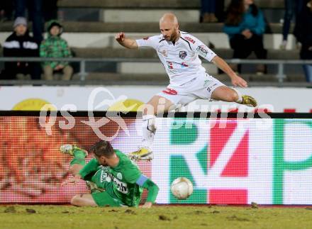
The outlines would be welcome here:
M 60 145 L 106 138 L 128 153 L 141 135 L 135 112 L 1 111 L 0 123 L 0 203 L 69 203 L 87 188 L 60 186 L 71 160 Z M 312 204 L 311 113 L 165 113 L 157 126 L 155 159 L 138 163 L 157 203 Z M 177 177 L 194 185 L 185 201 L 170 192 Z

